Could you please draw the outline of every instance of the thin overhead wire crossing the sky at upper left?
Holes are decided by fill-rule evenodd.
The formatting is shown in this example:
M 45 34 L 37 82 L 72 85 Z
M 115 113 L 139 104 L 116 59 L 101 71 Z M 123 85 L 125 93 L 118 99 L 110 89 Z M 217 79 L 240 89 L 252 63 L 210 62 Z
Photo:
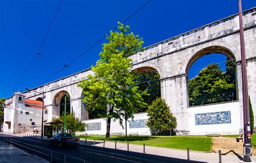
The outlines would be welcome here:
M 47 32 L 46 32 L 46 34 L 45 34 L 45 36 L 44 36 L 44 39 L 42 40 L 42 43 L 40 44 L 40 47 L 39 47 L 38 51 L 36 52 L 35 56 L 34 56 L 33 59 L 31 60 L 31 62 L 29 63 L 29 65 L 27 66 L 27 68 L 26 68 L 26 70 L 24 71 L 24 73 L 20 76 L 19 80 L 17 81 L 17 83 L 16 83 L 15 86 L 14 86 L 14 89 L 18 86 L 19 82 L 21 81 L 22 77 L 24 77 L 24 75 L 26 74 L 26 72 L 28 72 L 29 67 L 30 67 L 30 66 L 32 65 L 32 63 L 35 61 L 36 56 L 38 56 L 38 54 L 39 54 L 39 52 L 40 52 L 42 46 L 44 45 L 45 39 L 46 39 L 46 37 L 47 37 L 47 35 L 48 35 L 50 29 L 51 29 L 51 26 L 52 26 L 52 24 L 53 24 L 53 22 L 54 22 L 54 20 L 55 20 L 55 18 L 56 18 L 56 15 L 57 15 L 58 11 L 60 10 L 60 6 L 61 6 L 62 2 L 63 2 L 63 0 L 61 0 L 60 4 L 59 4 L 59 6 L 58 6 L 58 9 L 56 10 L 56 12 L 55 12 L 55 14 L 54 14 L 54 17 L 53 17 L 53 19 L 52 19 L 52 21 L 51 21 L 51 24 L 50 24 L 50 26 L 49 26 L 48 29 L 47 29 Z

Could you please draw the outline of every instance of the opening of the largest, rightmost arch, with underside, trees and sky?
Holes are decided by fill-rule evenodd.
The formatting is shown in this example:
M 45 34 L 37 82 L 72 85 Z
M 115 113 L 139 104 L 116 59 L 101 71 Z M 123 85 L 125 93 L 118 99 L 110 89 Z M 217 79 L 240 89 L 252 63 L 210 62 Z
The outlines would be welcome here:
M 189 71 L 191 70 L 191 67 L 193 64 L 196 64 L 200 58 L 205 58 L 207 56 L 210 58 L 211 55 L 214 57 L 212 61 L 207 62 L 207 66 L 199 68 L 200 72 L 195 77 L 191 77 L 189 79 Z M 219 62 L 216 62 L 216 58 L 222 58 L 225 56 L 225 59 Z M 238 93 L 237 93 L 237 75 L 236 75 L 236 58 L 234 57 L 234 54 L 231 50 L 227 49 L 226 47 L 221 46 L 211 46 L 211 47 L 205 47 L 202 50 L 199 50 L 198 52 L 195 52 L 193 56 L 189 59 L 188 65 L 186 66 L 186 74 L 187 74 L 187 92 L 188 92 L 188 104 L 191 105 L 204 105 L 204 104 L 212 104 L 212 103 L 218 103 L 218 102 L 228 102 L 232 100 L 238 100 Z M 220 65 L 225 65 L 225 68 L 221 70 Z M 197 68 L 198 69 L 198 68 Z M 212 71 L 214 70 L 214 71 Z M 209 84 L 211 86 L 198 86 L 198 85 L 204 85 L 205 75 L 208 75 L 209 78 Z M 217 75 L 218 74 L 218 75 Z M 204 77 L 203 77 L 204 75 Z M 217 75 L 216 78 L 213 76 Z M 212 76 L 212 77 L 211 77 Z M 216 81 L 214 81 L 216 80 Z M 217 83 L 218 82 L 218 83 Z M 232 88 L 221 88 L 220 82 L 223 83 L 222 86 L 232 86 Z M 219 84 L 219 85 L 218 85 Z M 198 88 L 196 88 L 198 86 Z M 217 86 L 217 88 L 216 88 Z M 219 86 L 219 87 L 218 87 Z M 200 88 L 199 88 L 200 87 Z M 209 92 L 209 89 L 218 89 L 219 95 L 216 95 L 216 98 L 210 97 L 214 96 L 214 93 Z M 220 90 L 219 90 L 220 89 Z M 207 92 L 207 93 L 205 93 Z M 197 94 L 197 95 L 195 95 Z M 206 95 L 209 95 L 209 97 L 206 97 Z M 217 99 L 218 96 L 218 99 Z M 208 99 L 208 102 L 205 102 L 203 98 L 210 98 Z M 222 98 L 222 99 L 221 99 Z M 196 102 L 195 102 L 196 101 Z M 202 101 L 202 103 L 200 103 Z

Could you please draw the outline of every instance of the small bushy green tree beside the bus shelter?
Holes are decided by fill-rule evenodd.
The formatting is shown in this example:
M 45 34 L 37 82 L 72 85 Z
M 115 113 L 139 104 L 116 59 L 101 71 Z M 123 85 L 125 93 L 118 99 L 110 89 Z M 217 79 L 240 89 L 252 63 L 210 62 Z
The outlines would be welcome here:
M 61 116 L 60 118 L 52 119 L 52 121 L 60 121 L 60 120 L 64 121 L 64 116 Z M 76 132 L 84 132 L 85 127 L 86 127 L 85 123 L 79 120 L 79 118 L 76 118 L 73 112 L 66 114 L 66 130 L 68 133 L 76 134 Z

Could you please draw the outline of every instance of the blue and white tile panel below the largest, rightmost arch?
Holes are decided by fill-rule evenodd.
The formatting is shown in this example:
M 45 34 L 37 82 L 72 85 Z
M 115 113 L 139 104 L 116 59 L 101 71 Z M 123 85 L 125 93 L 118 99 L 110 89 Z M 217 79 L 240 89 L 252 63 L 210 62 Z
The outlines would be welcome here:
M 195 125 L 231 123 L 230 111 L 195 114 Z

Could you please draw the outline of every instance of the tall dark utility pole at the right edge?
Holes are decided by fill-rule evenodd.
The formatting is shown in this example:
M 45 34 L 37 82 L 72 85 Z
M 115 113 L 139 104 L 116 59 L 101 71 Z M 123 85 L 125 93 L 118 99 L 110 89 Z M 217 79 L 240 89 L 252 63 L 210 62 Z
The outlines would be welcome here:
M 252 162 L 252 143 L 250 131 L 250 111 L 248 102 L 248 83 L 246 72 L 246 57 L 244 46 L 244 29 L 243 29 L 243 13 L 242 2 L 238 0 L 239 4 L 239 26 L 240 26 L 240 45 L 241 45 L 241 69 L 242 69 L 242 89 L 243 89 L 243 119 L 244 119 L 244 157 L 246 162 Z

